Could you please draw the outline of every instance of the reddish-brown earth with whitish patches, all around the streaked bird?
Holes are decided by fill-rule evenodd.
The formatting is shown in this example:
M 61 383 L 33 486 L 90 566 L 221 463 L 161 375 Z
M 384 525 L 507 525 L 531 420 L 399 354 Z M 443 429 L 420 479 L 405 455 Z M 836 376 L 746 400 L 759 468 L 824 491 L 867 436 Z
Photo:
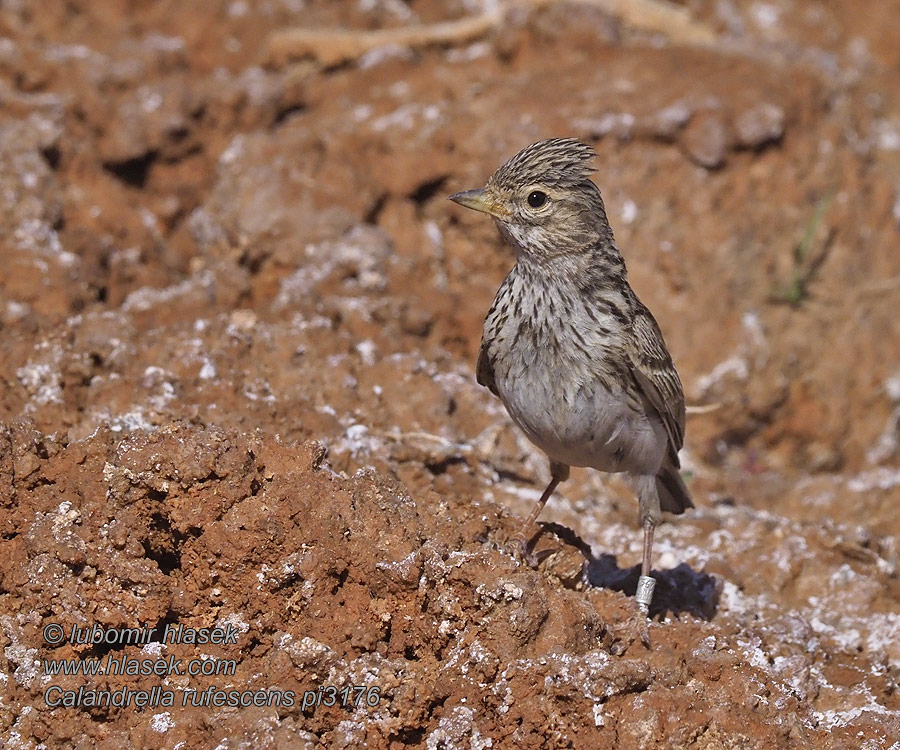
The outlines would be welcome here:
M 0 745 L 898 750 L 898 19 L 0 4 Z M 547 467 L 474 378 L 512 256 L 446 196 L 556 135 L 595 144 L 632 283 L 714 407 L 688 418 L 697 508 L 658 532 L 649 651 L 631 491 L 574 471 L 540 565 L 509 554 Z M 236 670 L 44 662 L 110 655 Z M 377 705 L 300 705 L 355 685 Z

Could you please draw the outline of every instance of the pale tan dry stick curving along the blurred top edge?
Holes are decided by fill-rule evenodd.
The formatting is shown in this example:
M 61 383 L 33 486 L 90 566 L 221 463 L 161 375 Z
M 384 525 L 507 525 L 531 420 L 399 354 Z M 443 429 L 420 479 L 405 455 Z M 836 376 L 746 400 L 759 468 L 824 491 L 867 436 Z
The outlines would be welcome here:
M 626 25 L 664 34 L 672 41 L 688 45 L 708 45 L 715 32 L 695 21 L 690 14 L 667 0 L 569 0 L 601 8 L 620 18 Z M 268 61 L 281 67 L 287 63 L 314 58 L 325 67 L 357 60 L 382 47 L 427 47 L 435 44 L 460 44 L 485 36 L 500 27 L 506 11 L 513 5 L 530 10 L 553 5 L 558 0 L 504 0 L 492 4 L 484 13 L 457 21 L 429 25 L 404 26 L 374 31 L 347 29 L 287 29 L 269 37 Z

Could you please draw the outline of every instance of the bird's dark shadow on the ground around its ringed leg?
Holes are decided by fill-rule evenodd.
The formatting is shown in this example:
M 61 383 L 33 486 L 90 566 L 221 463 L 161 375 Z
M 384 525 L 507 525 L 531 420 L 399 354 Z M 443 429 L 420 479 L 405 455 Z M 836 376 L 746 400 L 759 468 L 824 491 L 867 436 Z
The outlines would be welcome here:
M 543 523 L 541 529 L 541 533 L 553 533 L 560 541 L 571 545 L 583 555 L 585 567 L 582 580 L 587 585 L 634 596 L 641 574 L 640 565 L 621 568 L 615 555 L 602 554 L 594 557 L 591 546 L 562 524 Z M 694 570 L 687 563 L 680 563 L 669 570 L 654 569 L 652 574 L 656 579 L 656 588 L 650 604 L 651 617 L 664 617 L 668 614 L 678 617 L 688 613 L 709 621 L 716 615 L 721 586 L 715 577 Z

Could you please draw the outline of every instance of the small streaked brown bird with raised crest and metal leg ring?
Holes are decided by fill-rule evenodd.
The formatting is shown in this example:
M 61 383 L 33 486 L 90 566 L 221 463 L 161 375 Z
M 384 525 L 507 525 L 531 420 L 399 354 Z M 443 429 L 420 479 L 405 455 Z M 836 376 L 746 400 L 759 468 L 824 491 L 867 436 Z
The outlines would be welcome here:
M 516 253 L 484 321 L 478 382 L 550 459 L 527 538 L 570 466 L 626 472 L 644 527 L 637 602 L 647 612 L 661 510 L 692 508 L 679 474 L 684 393 L 659 326 L 628 285 L 600 191 L 594 150 L 540 141 L 480 190 L 450 200 L 494 217 Z

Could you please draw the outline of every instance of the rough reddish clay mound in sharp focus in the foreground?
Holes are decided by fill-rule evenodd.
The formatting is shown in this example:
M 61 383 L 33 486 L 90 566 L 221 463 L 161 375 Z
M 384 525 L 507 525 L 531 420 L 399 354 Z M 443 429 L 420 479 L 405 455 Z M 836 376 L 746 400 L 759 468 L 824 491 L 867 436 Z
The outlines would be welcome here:
M 610 575 L 608 560 L 585 559 L 583 546 L 551 530 L 541 568 L 522 565 L 503 551 L 517 521 L 495 503 L 433 492 L 414 500 L 375 471 L 334 474 L 319 444 L 215 428 L 124 439 L 101 430 L 62 445 L 20 427 L 4 440 L 16 499 L 4 520 L 22 530 L 6 544 L 2 581 L 9 611 L 20 613 L 3 619 L 12 695 L 37 706 L 79 689 L 156 686 L 175 700 L 25 712 L 14 723 L 21 736 L 58 744 L 104 726 L 100 747 L 149 746 L 164 726 L 168 746 L 191 747 L 223 734 L 310 747 L 487 738 L 541 747 L 550 737 L 596 747 L 611 735 L 634 746 L 659 736 L 701 747 L 848 741 L 816 728 L 808 697 L 764 656 L 778 649 L 794 674 L 819 669 L 806 652 L 808 626 L 738 625 L 726 609 L 715 624 L 683 616 L 654 625 L 647 651 L 630 600 L 596 583 Z M 633 593 L 636 572 L 620 573 Z M 703 578 L 686 566 L 664 574 L 660 600 L 687 601 Z M 714 585 L 693 594 L 717 613 Z M 65 623 L 67 635 L 94 623 L 158 635 L 143 645 L 31 647 L 48 622 Z M 230 627 L 234 643 L 163 635 L 179 626 Z M 44 665 L 122 657 L 175 659 L 181 669 L 201 658 L 220 674 L 50 677 Z M 322 686 L 365 692 L 329 706 Z M 200 702 L 229 690 L 266 695 L 276 710 L 231 706 L 212 725 L 216 707 Z M 304 706 L 304 695 L 318 702 Z

